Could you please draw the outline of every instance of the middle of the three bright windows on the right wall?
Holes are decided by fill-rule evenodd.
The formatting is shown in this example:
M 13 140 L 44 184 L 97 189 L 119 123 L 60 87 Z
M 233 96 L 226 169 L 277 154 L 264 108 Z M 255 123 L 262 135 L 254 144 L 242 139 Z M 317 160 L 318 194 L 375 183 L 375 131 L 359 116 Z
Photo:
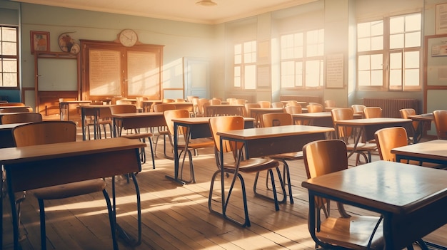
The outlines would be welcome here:
M 323 29 L 281 36 L 281 88 L 322 87 L 323 55 Z

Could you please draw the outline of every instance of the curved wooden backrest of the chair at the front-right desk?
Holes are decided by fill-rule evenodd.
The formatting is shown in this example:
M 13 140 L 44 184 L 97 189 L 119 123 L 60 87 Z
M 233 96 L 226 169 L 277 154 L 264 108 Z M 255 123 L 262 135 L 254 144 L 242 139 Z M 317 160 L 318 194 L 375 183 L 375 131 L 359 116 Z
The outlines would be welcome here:
M 303 147 L 304 167 L 308 178 L 348 168 L 348 150 L 342 140 L 316 140 Z

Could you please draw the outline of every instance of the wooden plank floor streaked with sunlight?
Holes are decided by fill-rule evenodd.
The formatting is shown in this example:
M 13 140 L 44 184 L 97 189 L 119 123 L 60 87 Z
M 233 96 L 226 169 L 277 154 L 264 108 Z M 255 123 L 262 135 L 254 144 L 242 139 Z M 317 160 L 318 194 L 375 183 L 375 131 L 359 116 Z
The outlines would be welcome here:
M 142 172 L 136 176 L 142 205 L 141 245 L 127 246 L 119 240 L 120 249 L 314 249 L 307 228 L 308 195 L 301 187 L 306 179 L 302 160 L 290 162 L 295 203 L 281 204 L 278 212 L 272 202 L 254 197 L 251 188 L 254 175 L 244 175 L 251 227 L 241 228 L 209 212 L 210 179 L 216 170 L 213 150 L 199 150 L 199 156 L 194 157 L 197 183 L 182 187 L 165 178 L 165 175 L 174 174 L 174 162 L 163 157 L 163 141 L 160 142 L 156 169 L 152 169 L 147 147 L 149 163 L 143 165 Z M 373 159 L 378 160 L 378 155 Z M 107 182 L 110 190 L 110 178 Z M 265 181 L 260 183 L 265 187 Z M 129 234 L 136 235 L 134 185 L 117 177 L 116 189 L 117 222 Z M 241 197 L 240 190 L 238 186 L 233 199 Z M 45 207 L 48 249 L 112 249 L 107 209 L 101 193 L 47 201 Z M 241 214 L 240 207 L 241 204 L 235 202 L 231 214 Z M 351 207 L 348 210 L 368 213 Z M 12 249 L 9 212 L 8 200 L 4 199 L 3 249 Z M 40 249 L 39 206 L 32 191 L 26 192 L 21 222 L 22 249 Z M 443 226 L 424 239 L 447 246 L 446 233 L 447 226 Z

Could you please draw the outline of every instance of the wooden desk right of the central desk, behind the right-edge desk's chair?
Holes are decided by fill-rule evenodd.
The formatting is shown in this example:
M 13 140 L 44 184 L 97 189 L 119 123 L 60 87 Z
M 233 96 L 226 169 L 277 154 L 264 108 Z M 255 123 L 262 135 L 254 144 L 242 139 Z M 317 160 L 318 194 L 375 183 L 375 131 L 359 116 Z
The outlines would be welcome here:
M 373 140 L 374 133 L 384 127 L 408 127 L 411 125 L 411 119 L 401 118 L 362 118 L 352 120 L 338 120 L 335 123 L 336 131 L 342 127 L 353 127 L 354 148 L 349 153 L 351 157 L 356 152 L 358 142 Z

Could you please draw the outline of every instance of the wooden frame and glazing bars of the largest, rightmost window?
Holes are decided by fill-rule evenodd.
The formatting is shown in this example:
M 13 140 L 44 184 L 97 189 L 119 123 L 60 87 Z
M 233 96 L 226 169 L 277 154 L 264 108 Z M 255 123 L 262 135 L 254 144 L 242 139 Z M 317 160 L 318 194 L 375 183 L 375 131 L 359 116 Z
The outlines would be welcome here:
M 411 15 L 415 15 L 415 14 L 419 14 L 421 16 L 421 23 L 420 23 L 420 28 L 419 28 L 419 33 L 420 33 L 420 43 L 419 46 L 412 46 L 412 47 L 406 47 L 403 46 L 402 48 L 391 48 L 390 42 L 391 42 L 391 36 L 392 35 L 396 35 L 396 33 L 391 34 L 390 31 L 390 26 L 391 26 L 391 19 L 395 18 L 395 17 L 399 17 L 399 16 L 411 16 Z M 422 59 L 423 59 L 423 31 L 422 31 L 422 22 L 423 22 L 423 15 L 421 13 L 421 11 L 416 11 L 416 12 L 411 12 L 411 13 L 406 13 L 406 14 L 398 14 L 396 16 L 386 16 L 383 18 L 379 18 L 379 19 L 373 19 L 373 20 L 369 20 L 369 21 L 358 21 L 356 26 L 358 27 L 358 24 L 364 24 L 364 23 L 372 23 L 372 22 L 377 22 L 377 21 L 383 21 L 383 48 L 382 49 L 377 49 L 377 50 L 369 50 L 369 51 L 358 51 L 356 52 L 356 88 L 357 90 L 364 90 L 364 91 L 397 91 L 397 92 L 403 92 L 403 91 L 421 91 L 422 90 L 422 86 L 423 86 L 423 63 L 422 63 Z M 405 36 L 408 33 L 411 33 L 414 31 L 403 31 L 402 34 L 403 36 Z M 372 37 L 372 36 L 371 36 Z M 358 36 L 356 37 L 356 43 L 357 43 L 357 48 L 358 48 Z M 405 41 L 405 40 L 404 40 Z M 419 53 L 419 60 L 418 60 L 418 76 L 419 76 L 419 80 L 418 80 L 418 85 L 406 85 L 406 81 L 405 81 L 405 71 L 406 71 L 406 66 L 405 66 L 405 53 L 407 52 L 412 52 L 412 51 L 418 51 Z M 401 54 L 401 84 L 400 85 L 391 85 L 391 55 L 393 53 L 402 53 Z M 382 84 L 381 85 L 360 85 L 360 81 L 359 81 L 359 75 L 360 75 L 360 70 L 359 70 L 359 58 L 361 56 L 367 56 L 367 55 L 378 55 L 381 54 L 383 56 L 382 58 Z M 408 69 L 408 68 L 407 68 Z M 370 71 L 371 71 L 371 66 L 370 66 Z M 370 77 L 371 80 L 371 77 Z

